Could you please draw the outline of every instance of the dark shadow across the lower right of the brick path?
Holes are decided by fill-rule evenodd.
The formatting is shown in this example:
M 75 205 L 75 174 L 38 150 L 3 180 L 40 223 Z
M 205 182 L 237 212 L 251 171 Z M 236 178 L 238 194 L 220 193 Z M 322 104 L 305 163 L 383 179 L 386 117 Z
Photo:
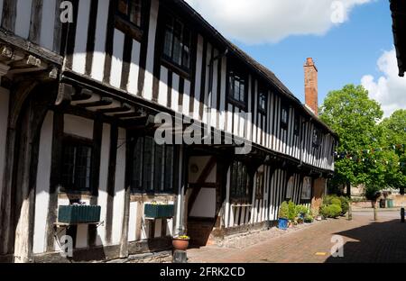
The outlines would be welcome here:
M 335 233 L 356 241 L 344 245 L 344 257 L 329 257 L 326 263 L 406 262 L 406 223 L 400 220 L 372 222 Z

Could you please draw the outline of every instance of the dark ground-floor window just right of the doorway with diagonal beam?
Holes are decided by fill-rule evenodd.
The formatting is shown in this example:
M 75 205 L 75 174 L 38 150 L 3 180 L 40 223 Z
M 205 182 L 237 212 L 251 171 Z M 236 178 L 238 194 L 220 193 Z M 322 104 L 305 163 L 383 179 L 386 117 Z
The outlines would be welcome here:
M 239 203 L 250 201 L 250 179 L 248 168 L 241 161 L 234 161 L 231 166 L 230 195 L 232 201 Z

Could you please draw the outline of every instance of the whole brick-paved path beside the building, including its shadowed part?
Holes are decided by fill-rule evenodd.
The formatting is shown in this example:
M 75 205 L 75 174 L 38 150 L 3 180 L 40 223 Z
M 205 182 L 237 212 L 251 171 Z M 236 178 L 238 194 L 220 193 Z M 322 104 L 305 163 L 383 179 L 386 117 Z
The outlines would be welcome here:
M 406 223 L 398 212 L 355 212 L 354 220 L 330 220 L 280 237 L 263 239 L 245 249 L 209 246 L 189 249 L 189 262 L 406 262 Z M 333 235 L 344 240 L 344 258 L 333 258 Z M 249 239 L 249 236 L 247 237 Z

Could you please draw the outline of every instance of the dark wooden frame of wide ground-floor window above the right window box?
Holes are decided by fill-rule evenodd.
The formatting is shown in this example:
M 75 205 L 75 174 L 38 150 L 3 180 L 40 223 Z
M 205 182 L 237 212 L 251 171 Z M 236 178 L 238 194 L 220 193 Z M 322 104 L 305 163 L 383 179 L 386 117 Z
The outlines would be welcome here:
M 157 168 L 157 164 L 155 162 L 152 163 L 152 167 L 151 167 L 151 180 L 152 180 L 152 184 L 151 186 L 148 188 L 148 186 L 144 186 L 144 173 L 145 173 L 145 165 L 143 163 L 144 161 L 144 154 L 145 154 L 145 140 L 146 138 L 151 138 L 152 139 L 152 161 L 156 160 L 156 150 L 157 147 L 161 147 L 161 155 L 163 159 L 163 162 L 161 163 L 161 180 L 163 180 L 161 182 L 161 188 L 159 188 L 159 190 L 156 189 L 155 186 L 155 180 L 156 180 L 156 175 L 155 175 L 155 171 Z M 141 186 L 134 186 L 134 172 L 135 172 L 135 167 L 134 167 L 134 161 L 137 161 L 135 159 L 136 155 L 135 155 L 135 149 L 137 146 L 137 141 L 143 140 L 143 148 L 142 148 L 142 152 L 141 152 L 141 158 L 140 159 L 141 162 L 141 173 L 140 173 L 140 183 Z M 171 147 L 171 158 L 167 158 L 167 153 L 168 153 L 168 147 Z M 139 136 L 135 136 L 134 137 L 134 141 L 132 141 L 131 145 L 130 145 L 130 151 L 129 151 L 129 155 L 130 155 L 130 167 L 129 167 L 129 175 L 130 175 L 130 188 L 131 188 L 131 193 L 134 195 L 139 195 L 139 194 L 147 194 L 147 195 L 173 195 L 175 194 L 175 186 L 176 186 L 176 178 L 175 177 L 175 159 L 176 159 L 176 148 L 174 145 L 158 145 L 156 144 L 156 142 L 153 140 L 152 135 L 139 135 Z M 167 170 L 167 164 L 168 164 L 168 159 L 171 159 L 171 171 Z M 160 165 L 160 164 L 158 164 Z M 168 174 L 167 174 L 168 173 Z M 165 183 L 168 177 L 168 175 L 171 175 L 171 188 L 167 188 Z

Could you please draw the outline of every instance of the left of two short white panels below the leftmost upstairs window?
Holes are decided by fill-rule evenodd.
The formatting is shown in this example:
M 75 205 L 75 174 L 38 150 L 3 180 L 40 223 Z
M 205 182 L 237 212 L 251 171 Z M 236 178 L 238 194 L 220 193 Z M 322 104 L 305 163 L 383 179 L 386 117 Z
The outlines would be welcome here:
M 111 72 L 110 72 L 110 84 L 115 87 L 120 87 L 121 84 L 124 44 L 125 44 L 125 34 L 115 29 L 113 57 L 111 58 Z

